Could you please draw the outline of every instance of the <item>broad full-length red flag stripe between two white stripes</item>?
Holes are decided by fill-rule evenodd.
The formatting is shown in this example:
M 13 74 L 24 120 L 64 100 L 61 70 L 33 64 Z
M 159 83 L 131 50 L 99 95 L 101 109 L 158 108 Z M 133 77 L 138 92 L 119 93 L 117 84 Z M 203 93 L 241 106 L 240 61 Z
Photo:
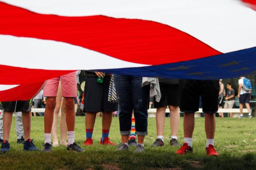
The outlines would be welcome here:
M 67 42 L 141 64 L 221 54 L 171 26 L 140 19 L 44 15 L 0 2 L 0 23 L 0 34 Z

